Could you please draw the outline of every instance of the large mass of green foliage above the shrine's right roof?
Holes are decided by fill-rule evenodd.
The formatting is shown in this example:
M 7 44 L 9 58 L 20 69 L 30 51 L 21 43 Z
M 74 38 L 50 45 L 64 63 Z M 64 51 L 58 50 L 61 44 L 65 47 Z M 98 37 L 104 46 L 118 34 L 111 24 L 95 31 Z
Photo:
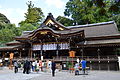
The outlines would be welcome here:
M 113 9 L 113 5 L 117 8 Z M 69 0 L 64 14 L 71 17 L 75 24 L 106 22 L 120 13 L 118 5 L 114 0 Z

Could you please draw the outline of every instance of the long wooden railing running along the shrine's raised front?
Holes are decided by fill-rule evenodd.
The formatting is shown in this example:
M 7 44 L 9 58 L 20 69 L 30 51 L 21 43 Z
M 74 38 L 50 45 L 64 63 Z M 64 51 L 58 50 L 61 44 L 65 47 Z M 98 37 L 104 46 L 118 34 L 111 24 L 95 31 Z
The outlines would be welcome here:
M 115 55 L 112 56 L 83 56 L 83 58 L 81 56 L 76 56 L 75 58 L 70 58 L 68 56 L 60 56 L 60 57 L 53 57 L 53 60 L 55 61 L 77 61 L 77 58 L 79 58 L 79 60 L 82 60 L 83 58 L 87 61 L 118 61 L 118 57 Z M 14 60 L 31 60 L 31 58 L 15 58 Z M 35 60 L 35 58 L 32 58 L 32 60 Z M 44 61 L 46 60 L 52 60 L 52 59 L 44 59 Z

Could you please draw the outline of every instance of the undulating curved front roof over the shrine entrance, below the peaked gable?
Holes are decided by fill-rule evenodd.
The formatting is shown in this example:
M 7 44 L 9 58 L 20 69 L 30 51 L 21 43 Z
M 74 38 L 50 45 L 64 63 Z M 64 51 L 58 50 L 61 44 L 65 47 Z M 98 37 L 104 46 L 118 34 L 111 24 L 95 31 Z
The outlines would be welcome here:
M 27 31 L 24 32 L 21 36 L 15 37 L 16 40 L 23 39 L 23 40 L 29 40 L 34 38 L 33 36 L 36 36 L 37 34 L 42 34 L 42 32 L 50 32 L 52 35 L 55 36 L 73 36 L 73 35 L 84 35 L 84 30 L 63 30 L 63 31 L 55 31 L 49 27 L 43 27 L 43 28 L 38 28 L 37 30 L 34 31 Z

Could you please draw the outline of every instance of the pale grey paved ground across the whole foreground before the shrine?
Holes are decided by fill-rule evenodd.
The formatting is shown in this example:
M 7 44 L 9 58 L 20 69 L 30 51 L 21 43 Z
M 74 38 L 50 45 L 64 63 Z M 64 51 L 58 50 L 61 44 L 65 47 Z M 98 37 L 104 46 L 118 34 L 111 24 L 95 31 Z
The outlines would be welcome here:
M 32 72 L 23 74 L 22 71 L 14 73 L 4 68 L 0 70 L 0 80 L 120 80 L 120 71 L 89 71 L 88 75 L 74 75 L 68 71 L 56 72 L 55 77 L 49 72 Z

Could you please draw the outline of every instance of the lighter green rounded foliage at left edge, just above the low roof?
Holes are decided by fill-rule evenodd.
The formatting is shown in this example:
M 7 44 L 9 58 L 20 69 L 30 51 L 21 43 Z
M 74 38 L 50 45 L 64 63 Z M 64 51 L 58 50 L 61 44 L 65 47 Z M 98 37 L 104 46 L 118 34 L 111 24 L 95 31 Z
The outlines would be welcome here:
M 6 43 L 14 40 L 15 36 L 20 35 L 20 30 L 14 24 L 0 25 L 0 43 Z

